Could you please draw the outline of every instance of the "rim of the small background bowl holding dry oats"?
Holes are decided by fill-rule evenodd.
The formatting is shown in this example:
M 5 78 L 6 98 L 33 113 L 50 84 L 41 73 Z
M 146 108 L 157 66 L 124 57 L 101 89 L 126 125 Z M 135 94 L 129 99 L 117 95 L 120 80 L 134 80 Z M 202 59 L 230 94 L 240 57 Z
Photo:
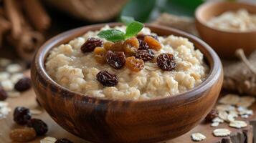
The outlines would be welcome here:
M 202 20 L 202 17 L 199 16 L 203 11 L 203 9 L 205 9 L 205 7 L 211 7 L 217 4 L 231 4 L 231 5 L 244 5 L 244 6 L 255 6 L 256 9 L 256 5 L 255 4 L 247 4 L 245 2 L 229 2 L 229 1 L 209 1 L 206 2 L 205 4 L 202 4 L 201 6 L 199 6 L 198 8 L 196 8 L 196 12 L 195 12 L 195 16 L 196 16 L 196 20 L 199 21 L 199 23 L 203 24 L 204 26 L 206 26 L 209 29 L 215 30 L 215 31 L 219 31 L 219 32 L 223 32 L 223 33 L 227 33 L 227 34 L 252 34 L 256 32 L 256 29 L 252 29 L 250 31 L 224 31 L 224 30 L 220 30 L 217 29 L 215 27 L 211 27 L 208 24 L 206 24 L 205 21 Z M 229 11 L 229 9 L 226 9 L 227 11 Z M 206 10 L 207 11 L 207 10 Z M 204 11 L 205 12 L 205 11 Z

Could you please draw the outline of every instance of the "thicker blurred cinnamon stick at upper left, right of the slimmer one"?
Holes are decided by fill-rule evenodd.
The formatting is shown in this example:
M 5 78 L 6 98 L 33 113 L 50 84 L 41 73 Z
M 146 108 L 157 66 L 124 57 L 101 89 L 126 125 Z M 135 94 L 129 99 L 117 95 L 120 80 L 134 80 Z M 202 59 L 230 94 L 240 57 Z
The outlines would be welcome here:
M 22 1 L 24 11 L 27 14 L 32 25 L 39 31 L 44 31 L 50 26 L 50 18 L 42 4 L 38 0 L 25 0 Z

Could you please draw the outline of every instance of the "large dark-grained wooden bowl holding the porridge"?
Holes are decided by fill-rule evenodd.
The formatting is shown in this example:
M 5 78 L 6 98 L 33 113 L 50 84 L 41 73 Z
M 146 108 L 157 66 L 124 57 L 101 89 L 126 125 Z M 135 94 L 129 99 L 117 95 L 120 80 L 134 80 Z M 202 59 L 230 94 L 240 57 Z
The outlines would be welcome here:
M 179 137 L 206 117 L 222 87 L 222 64 L 204 41 L 182 31 L 146 24 L 159 35 L 187 37 L 200 49 L 209 64 L 202 84 L 175 97 L 148 100 L 100 99 L 72 92 L 54 82 L 44 69 L 49 51 L 87 31 L 105 24 L 84 26 L 47 41 L 37 51 L 32 64 L 32 82 L 42 107 L 68 132 L 91 142 L 158 142 Z M 120 24 L 110 24 L 116 26 Z

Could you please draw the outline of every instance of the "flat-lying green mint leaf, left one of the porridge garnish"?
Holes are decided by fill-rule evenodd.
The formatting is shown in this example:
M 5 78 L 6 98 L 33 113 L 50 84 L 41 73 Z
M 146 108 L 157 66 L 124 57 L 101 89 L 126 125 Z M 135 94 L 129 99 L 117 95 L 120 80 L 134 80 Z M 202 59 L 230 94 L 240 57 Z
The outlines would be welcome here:
M 123 31 L 117 29 L 100 31 L 100 33 L 98 33 L 98 36 L 108 41 L 122 41 L 125 39 L 125 34 L 123 33 Z

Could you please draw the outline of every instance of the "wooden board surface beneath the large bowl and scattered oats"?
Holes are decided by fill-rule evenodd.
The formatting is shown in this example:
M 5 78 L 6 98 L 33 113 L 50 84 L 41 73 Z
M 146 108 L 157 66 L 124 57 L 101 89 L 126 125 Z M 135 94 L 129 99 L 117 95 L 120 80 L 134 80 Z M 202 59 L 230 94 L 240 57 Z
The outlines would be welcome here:
M 25 74 L 29 76 L 29 71 L 26 71 Z M 23 107 L 29 107 L 29 108 L 37 107 L 37 102 L 35 101 L 35 94 L 33 89 L 30 89 L 29 91 L 22 93 L 21 97 L 8 98 L 6 99 L 6 102 L 9 102 L 9 106 L 11 107 L 12 111 L 11 113 L 9 113 L 6 119 L 0 120 L 0 143 L 11 142 L 11 139 L 9 139 L 9 132 L 11 131 L 11 129 L 15 129 L 19 127 L 13 121 L 13 111 L 15 107 L 17 106 L 23 106 Z M 256 103 L 253 104 L 252 107 L 250 107 L 250 109 L 253 109 L 253 111 L 256 113 Z M 44 122 L 46 122 L 49 127 L 49 131 L 45 136 L 37 137 L 31 143 L 39 143 L 40 139 L 47 136 L 56 137 L 56 138 L 67 138 L 72 140 L 72 142 L 75 142 L 75 143 L 87 142 L 83 139 L 80 139 L 79 137 L 75 137 L 74 135 L 65 131 L 65 129 L 62 129 L 62 127 L 60 127 L 57 123 L 55 123 L 45 111 L 42 114 L 33 115 L 32 117 L 42 119 Z M 250 122 L 251 125 L 243 129 L 234 129 L 234 128 L 228 127 L 227 123 L 219 124 L 219 127 L 210 127 L 210 123 L 202 122 L 197 127 L 192 129 L 190 132 L 182 135 L 181 137 L 177 137 L 176 139 L 171 139 L 169 141 L 166 141 L 165 143 L 193 142 L 191 140 L 191 134 L 196 132 L 200 132 L 207 137 L 207 139 L 202 141 L 202 143 L 231 143 L 231 142 L 232 143 L 242 143 L 242 142 L 252 143 L 253 134 L 255 134 L 253 132 L 253 129 L 254 130 L 256 129 L 256 115 L 252 115 L 250 118 L 243 119 L 243 120 L 247 120 L 248 122 Z M 229 137 L 214 137 L 212 135 L 212 131 L 216 128 L 230 129 L 232 131 L 232 134 Z M 255 139 L 255 142 L 256 142 L 256 139 Z

